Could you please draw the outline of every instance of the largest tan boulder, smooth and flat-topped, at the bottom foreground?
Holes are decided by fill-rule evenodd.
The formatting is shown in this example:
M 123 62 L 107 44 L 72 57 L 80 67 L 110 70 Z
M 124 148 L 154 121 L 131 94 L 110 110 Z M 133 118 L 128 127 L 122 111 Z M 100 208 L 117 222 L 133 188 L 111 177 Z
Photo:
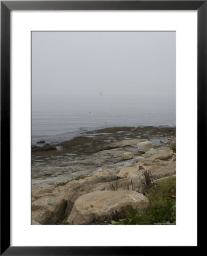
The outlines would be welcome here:
M 104 220 L 115 210 L 131 206 L 147 210 L 150 203 L 147 197 L 135 191 L 95 191 L 78 197 L 67 222 L 69 224 L 89 224 L 93 218 Z

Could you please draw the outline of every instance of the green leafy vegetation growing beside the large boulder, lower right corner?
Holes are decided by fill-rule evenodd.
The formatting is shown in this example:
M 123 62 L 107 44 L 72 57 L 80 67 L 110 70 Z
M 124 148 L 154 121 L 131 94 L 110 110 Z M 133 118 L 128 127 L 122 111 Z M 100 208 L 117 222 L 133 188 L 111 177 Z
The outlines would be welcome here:
M 156 225 L 176 224 L 176 179 L 169 177 L 156 182 L 147 197 L 150 208 L 144 213 L 140 210 L 129 210 L 126 218 L 111 221 L 113 225 Z

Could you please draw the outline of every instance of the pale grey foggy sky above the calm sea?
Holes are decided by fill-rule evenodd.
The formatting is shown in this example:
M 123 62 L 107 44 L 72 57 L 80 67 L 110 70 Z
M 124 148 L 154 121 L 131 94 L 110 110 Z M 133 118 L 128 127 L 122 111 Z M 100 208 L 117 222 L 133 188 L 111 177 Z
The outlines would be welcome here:
M 175 32 L 32 32 L 32 99 L 175 97 Z

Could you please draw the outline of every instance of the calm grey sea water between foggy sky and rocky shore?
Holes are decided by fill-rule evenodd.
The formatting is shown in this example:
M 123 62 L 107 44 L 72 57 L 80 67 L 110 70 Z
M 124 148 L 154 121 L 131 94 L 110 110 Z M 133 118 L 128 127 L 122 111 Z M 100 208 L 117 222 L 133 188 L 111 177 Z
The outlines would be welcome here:
M 175 97 L 32 97 L 32 144 L 67 141 L 114 126 L 175 126 Z

